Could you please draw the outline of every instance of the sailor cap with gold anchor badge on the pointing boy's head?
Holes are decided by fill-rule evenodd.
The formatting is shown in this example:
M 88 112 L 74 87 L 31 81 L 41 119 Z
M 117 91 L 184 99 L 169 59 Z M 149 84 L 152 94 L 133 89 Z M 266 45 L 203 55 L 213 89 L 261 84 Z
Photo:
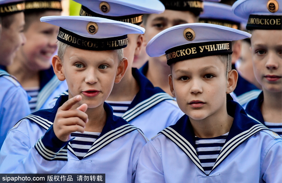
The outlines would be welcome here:
M 59 26 L 59 41 L 84 50 L 122 49 L 127 46 L 127 34 L 145 32 L 138 25 L 99 17 L 47 16 L 40 21 Z

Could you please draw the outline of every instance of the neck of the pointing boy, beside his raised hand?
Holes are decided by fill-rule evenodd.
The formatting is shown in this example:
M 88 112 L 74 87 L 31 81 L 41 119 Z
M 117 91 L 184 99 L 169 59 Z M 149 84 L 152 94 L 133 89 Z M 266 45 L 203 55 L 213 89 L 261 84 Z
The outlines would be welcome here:
M 104 105 L 96 108 L 88 108 L 85 112 L 88 115 L 88 123 L 85 125 L 86 132 L 102 132 L 107 120 L 107 113 Z

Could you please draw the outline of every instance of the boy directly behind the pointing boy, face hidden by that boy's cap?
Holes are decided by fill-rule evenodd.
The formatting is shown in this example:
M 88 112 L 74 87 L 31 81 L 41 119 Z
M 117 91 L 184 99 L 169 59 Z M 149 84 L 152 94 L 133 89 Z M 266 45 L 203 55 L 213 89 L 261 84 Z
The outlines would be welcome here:
M 76 2 L 82 3 L 82 16 L 101 17 L 136 25 L 142 24 L 144 13 L 162 13 L 165 10 L 159 0 Z M 154 87 L 138 69 L 132 67 L 134 56 L 140 54 L 142 44 L 142 34 L 128 34 L 128 46 L 124 49 L 128 69 L 123 79 L 114 84 L 106 102 L 112 106 L 114 115 L 127 120 L 140 128 L 146 137 L 152 138 L 162 129 L 175 124 L 183 112 L 173 97 L 159 87 Z

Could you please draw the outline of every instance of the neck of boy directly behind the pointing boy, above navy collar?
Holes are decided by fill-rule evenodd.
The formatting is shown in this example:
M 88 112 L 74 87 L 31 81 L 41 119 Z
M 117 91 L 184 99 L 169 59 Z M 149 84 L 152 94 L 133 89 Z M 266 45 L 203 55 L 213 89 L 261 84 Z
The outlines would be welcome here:
M 123 79 L 119 83 L 115 83 L 109 101 L 132 101 L 139 91 L 139 85 L 132 75 L 132 69 L 127 68 Z

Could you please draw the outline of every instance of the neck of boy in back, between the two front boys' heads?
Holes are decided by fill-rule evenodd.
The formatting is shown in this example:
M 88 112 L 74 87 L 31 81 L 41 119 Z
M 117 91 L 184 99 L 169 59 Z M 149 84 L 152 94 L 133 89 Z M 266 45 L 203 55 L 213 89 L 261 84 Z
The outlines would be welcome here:
M 146 77 L 151 81 L 155 87 L 160 87 L 170 96 L 170 86 L 168 82 L 168 76 L 171 74 L 170 66 L 166 63 L 160 63 L 160 61 L 154 60 L 156 58 L 149 58 L 148 71 Z

